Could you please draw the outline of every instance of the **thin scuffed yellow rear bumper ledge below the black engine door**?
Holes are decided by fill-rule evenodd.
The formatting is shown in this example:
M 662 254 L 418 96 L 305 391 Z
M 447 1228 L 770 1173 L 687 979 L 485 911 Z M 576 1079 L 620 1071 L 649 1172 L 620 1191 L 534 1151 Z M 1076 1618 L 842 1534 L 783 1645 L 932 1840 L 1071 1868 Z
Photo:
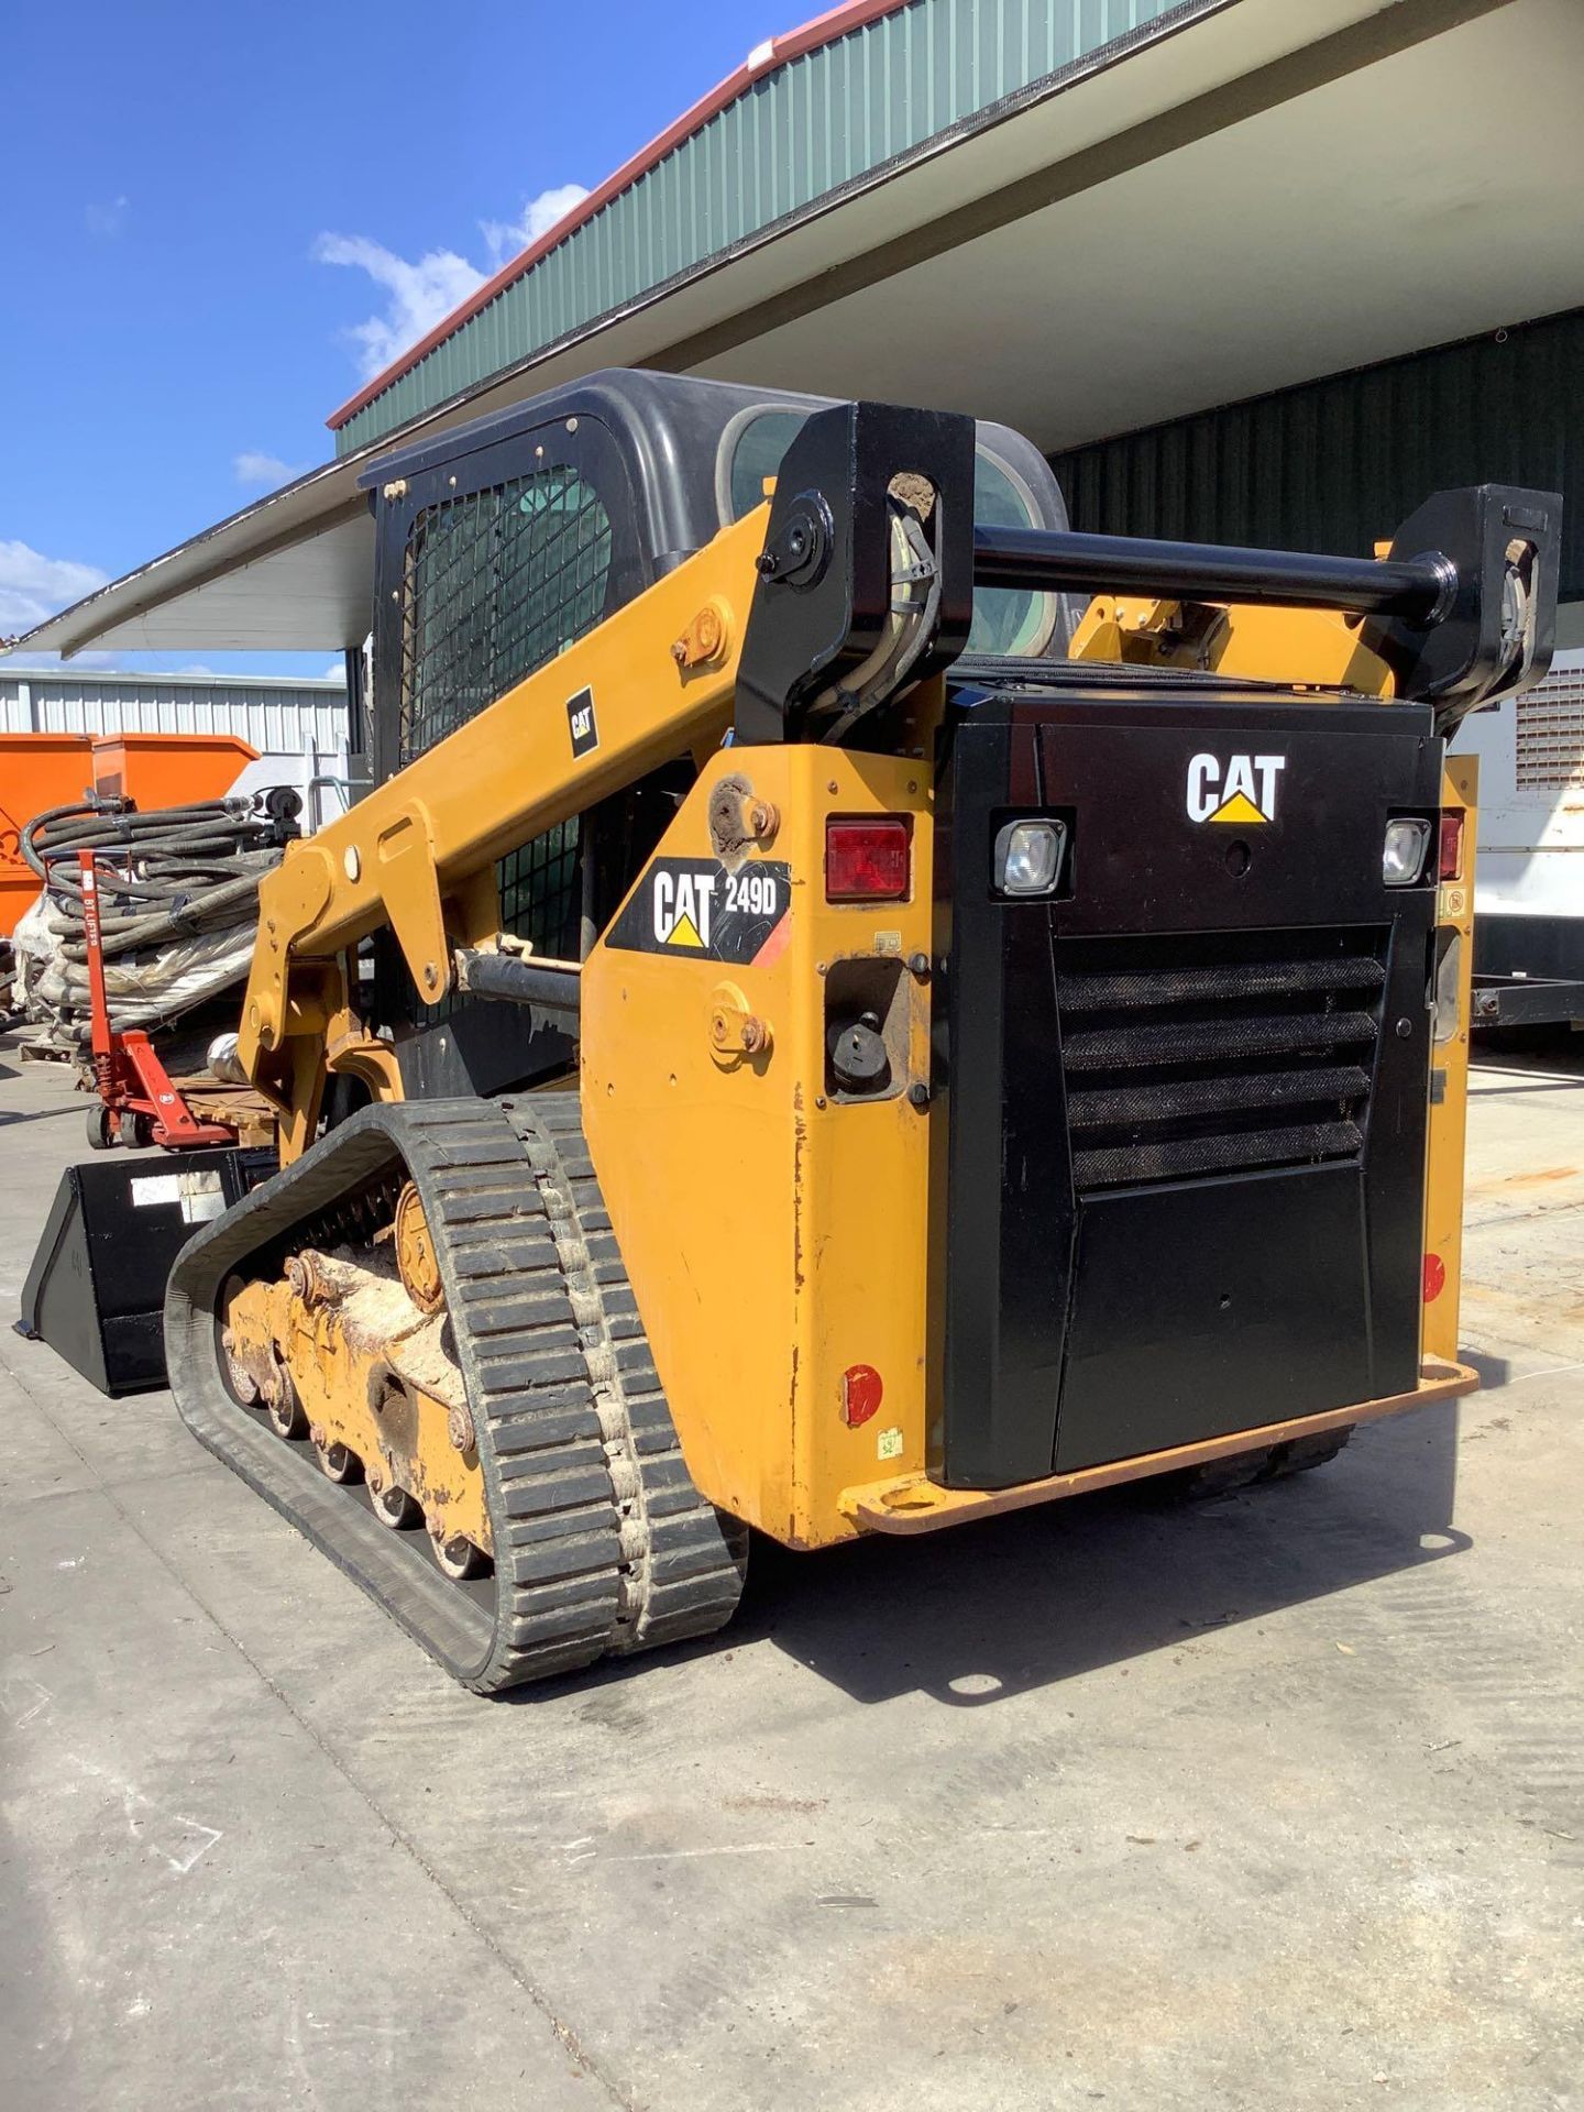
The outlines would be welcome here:
M 1322 1430 L 1343 1430 L 1352 1423 L 1381 1421 L 1385 1415 L 1404 1415 L 1432 1400 L 1455 1400 L 1459 1394 L 1472 1394 L 1478 1383 L 1478 1373 L 1468 1364 L 1442 1364 L 1438 1358 L 1426 1358 L 1419 1366 L 1419 1383 L 1407 1394 L 1356 1400 L 1352 1407 L 1328 1409 L 1324 1415 L 1299 1415 L 1290 1421 L 1261 1423 L 1257 1430 L 1233 1430 L 1198 1445 L 1138 1453 L 1134 1459 L 1109 1459 L 1105 1466 L 1086 1466 L 1071 1474 L 1045 1474 L 1043 1481 L 1024 1481 L 1012 1489 L 942 1489 L 921 1474 L 870 1481 L 843 1489 L 841 1510 L 862 1533 L 934 1533 L 946 1525 L 993 1519 L 1003 1510 L 1031 1510 L 1035 1504 L 1054 1504 L 1062 1495 L 1086 1495 L 1090 1489 L 1111 1489 L 1124 1481 L 1147 1481 L 1151 1474 L 1204 1466 L 1208 1459 L 1286 1445 L 1290 1438 L 1316 1436 Z

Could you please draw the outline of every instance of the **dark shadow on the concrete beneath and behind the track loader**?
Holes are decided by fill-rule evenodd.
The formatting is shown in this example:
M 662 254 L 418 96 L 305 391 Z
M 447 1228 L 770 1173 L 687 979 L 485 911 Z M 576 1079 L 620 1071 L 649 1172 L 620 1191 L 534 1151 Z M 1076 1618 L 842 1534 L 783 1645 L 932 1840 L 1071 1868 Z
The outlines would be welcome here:
M 737 1620 L 663 1656 L 769 1639 L 860 1702 L 984 1706 L 1462 1552 L 1455 1462 L 1447 1402 L 1360 1430 L 1331 1466 L 1208 1504 L 1113 1489 L 819 1554 L 756 1535 Z

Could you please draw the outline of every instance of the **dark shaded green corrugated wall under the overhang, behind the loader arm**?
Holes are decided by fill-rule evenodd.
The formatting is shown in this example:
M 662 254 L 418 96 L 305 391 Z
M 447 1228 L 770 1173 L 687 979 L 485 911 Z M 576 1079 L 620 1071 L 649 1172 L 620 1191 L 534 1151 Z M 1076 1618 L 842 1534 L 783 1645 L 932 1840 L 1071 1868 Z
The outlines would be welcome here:
M 1584 308 L 1440 344 L 1052 458 L 1073 522 L 1276 549 L 1369 551 L 1430 492 L 1561 492 L 1584 598 Z

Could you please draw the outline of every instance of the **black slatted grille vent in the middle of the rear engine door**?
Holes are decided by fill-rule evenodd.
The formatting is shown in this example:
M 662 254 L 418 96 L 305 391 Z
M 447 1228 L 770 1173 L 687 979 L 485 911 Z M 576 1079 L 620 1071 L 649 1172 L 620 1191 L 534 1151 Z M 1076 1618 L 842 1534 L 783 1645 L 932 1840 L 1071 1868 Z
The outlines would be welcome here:
M 1079 1191 L 1356 1159 L 1385 929 L 1064 940 Z

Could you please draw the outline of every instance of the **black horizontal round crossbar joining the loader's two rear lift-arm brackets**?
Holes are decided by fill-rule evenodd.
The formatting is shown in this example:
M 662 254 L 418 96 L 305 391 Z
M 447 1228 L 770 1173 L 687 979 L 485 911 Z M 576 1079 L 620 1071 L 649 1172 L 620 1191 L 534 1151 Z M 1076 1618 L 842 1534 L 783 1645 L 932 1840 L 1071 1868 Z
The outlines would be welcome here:
M 1166 602 L 1263 602 L 1345 608 L 1432 625 L 1451 608 L 1457 568 L 1438 551 L 1409 560 L 1157 543 L 1054 528 L 974 528 L 976 587 L 1147 593 Z

